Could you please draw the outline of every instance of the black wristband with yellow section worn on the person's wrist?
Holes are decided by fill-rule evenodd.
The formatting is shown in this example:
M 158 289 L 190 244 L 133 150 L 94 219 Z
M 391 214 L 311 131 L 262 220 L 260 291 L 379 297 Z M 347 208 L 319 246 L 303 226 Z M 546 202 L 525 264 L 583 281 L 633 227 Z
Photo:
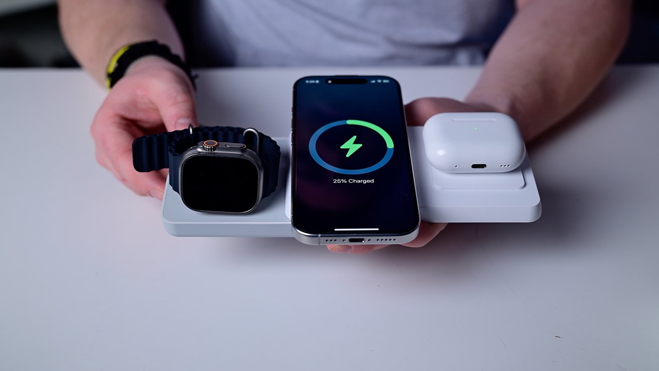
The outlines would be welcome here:
M 169 46 L 160 44 L 156 40 L 129 44 L 117 50 L 117 52 L 114 53 L 114 55 L 112 55 L 110 58 L 110 61 L 107 64 L 107 69 L 105 71 L 105 84 L 107 87 L 112 88 L 112 86 L 115 86 L 117 81 L 119 81 L 119 79 L 125 75 L 126 71 L 128 71 L 128 68 L 130 65 L 132 65 L 132 63 L 138 61 L 138 59 L 142 59 L 151 55 L 161 57 L 162 59 L 165 59 L 166 61 L 169 61 L 180 67 L 183 72 L 188 75 L 190 82 L 192 82 L 192 86 L 196 90 L 197 86 L 194 83 L 194 77 L 192 76 L 190 67 L 188 67 L 188 65 L 183 61 L 183 59 L 181 59 L 181 57 L 179 57 L 179 55 L 172 53 L 169 49 Z

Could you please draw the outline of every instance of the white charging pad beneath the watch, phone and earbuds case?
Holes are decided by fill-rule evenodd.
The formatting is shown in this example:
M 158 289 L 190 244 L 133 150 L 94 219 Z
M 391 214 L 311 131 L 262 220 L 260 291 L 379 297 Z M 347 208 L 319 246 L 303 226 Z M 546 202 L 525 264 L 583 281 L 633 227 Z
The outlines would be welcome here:
M 408 127 L 416 194 L 426 222 L 532 222 L 540 217 L 540 195 L 528 154 L 519 168 L 503 173 L 448 174 L 430 165 L 423 127 Z M 167 181 L 162 219 L 173 236 L 292 237 L 289 138 L 281 147 L 279 183 L 246 215 L 199 213 L 185 207 Z M 392 211 L 392 212 L 395 212 Z

